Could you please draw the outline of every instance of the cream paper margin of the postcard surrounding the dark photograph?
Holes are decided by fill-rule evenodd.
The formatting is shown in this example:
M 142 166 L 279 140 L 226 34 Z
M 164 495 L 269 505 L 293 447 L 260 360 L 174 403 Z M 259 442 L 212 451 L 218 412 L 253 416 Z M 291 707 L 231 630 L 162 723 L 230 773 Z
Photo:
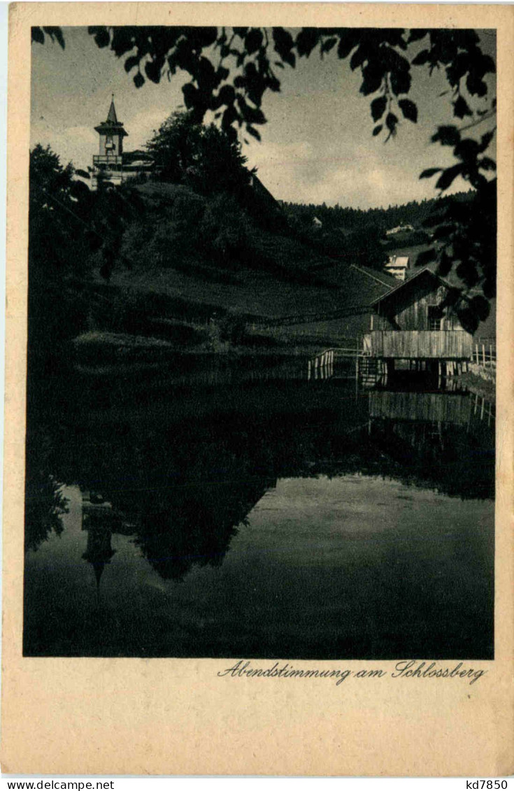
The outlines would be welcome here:
M 497 28 L 499 288 L 496 658 L 437 679 L 218 678 L 223 660 L 21 655 L 31 25 Z M 19 3 L 10 8 L 2 770 L 26 774 L 488 777 L 514 770 L 512 358 L 514 8 L 478 5 Z M 264 663 L 262 663 L 264 664 Z M 267 664 L 267 663 L 266 663 Z M 302 665 L 322 663 L 304 662 Z M 333 664 L 333 663 L 331 663 Z M 393 663 L 345 662 L 357 669 Z M 473 663 L 478 664 L 478 663 Z M 298 681 L 299 679 L 297 679 Z

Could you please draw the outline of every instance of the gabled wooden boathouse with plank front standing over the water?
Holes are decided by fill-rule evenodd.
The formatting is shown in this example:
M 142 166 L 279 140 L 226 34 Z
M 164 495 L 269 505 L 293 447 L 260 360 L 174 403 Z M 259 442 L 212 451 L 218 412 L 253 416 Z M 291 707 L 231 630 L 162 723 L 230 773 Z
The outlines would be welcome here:
M 373 303 L 364 353 L 382 360 L 391 372 L 402 367 L 446 373 L 471 360 L 473 338 L 448 307 L 448 282 L 425 267 Z

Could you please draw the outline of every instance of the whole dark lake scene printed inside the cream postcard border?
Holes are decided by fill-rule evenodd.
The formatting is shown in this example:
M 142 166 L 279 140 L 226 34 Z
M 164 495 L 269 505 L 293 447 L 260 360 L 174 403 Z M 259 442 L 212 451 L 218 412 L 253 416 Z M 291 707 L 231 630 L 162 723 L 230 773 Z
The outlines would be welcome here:
M 496 36 L 32 27 L 24 657 L 494 659 Z

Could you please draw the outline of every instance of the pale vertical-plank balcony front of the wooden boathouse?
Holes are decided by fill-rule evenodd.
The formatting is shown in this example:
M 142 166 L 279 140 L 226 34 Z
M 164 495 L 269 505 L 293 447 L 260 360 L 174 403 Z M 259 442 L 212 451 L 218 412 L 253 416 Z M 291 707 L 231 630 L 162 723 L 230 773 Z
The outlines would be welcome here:
M 473 338 L 463 330 L 372 330 L 372 357 L 403 360 L 471 360 Z

